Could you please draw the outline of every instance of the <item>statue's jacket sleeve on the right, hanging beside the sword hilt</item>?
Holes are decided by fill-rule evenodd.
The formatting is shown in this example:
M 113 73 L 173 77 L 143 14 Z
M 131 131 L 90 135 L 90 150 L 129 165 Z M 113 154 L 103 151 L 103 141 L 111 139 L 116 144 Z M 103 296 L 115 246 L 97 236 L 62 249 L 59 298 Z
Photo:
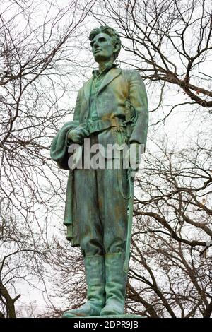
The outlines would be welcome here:
M 143 145 L 145 151 L 148 131 L 148 100 L 143 80 L 140 74 L 134 70 L 131 71 L 129 78 L 129 100 L 131 107 L 136 112 L 129 143 L 136 141 Z

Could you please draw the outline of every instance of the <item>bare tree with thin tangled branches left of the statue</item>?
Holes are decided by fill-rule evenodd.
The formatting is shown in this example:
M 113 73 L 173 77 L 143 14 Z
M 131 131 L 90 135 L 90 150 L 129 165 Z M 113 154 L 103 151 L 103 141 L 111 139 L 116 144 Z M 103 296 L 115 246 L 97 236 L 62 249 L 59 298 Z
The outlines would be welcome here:
M 1 316 L 16 316 L 18 282 L 30 283 L 33 275 L 45 282 L 44 261 L 54 232 L 48 223 L 57 218 L 55 206 L 58 211 L 64 203 L 66 181 L 49 160 L 49 146 L 71 114 L 76 43 L 94 3 L 1 4 Z

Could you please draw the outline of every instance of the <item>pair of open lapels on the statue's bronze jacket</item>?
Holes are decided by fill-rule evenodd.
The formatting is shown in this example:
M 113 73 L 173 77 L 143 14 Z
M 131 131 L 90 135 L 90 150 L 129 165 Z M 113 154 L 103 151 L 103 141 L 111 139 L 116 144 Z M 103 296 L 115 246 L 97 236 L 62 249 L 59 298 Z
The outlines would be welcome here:
M 102 83 L 100 85 L 100 88 L 98 90 L 97 95 L 100 93 L 100 91 L 102 89 L 105 88 L 105 86 L 107 86 L 110 82 L 112 82 L 114 80 L 114 78 L 116 78 L 117 76 L 119 76 L 119 74 L 121 72 L 122 72 L 122 69 L 120 69 L 120 68 L 112 68 L 112 69 L 110 69 L 110 71 L 108 71 L 105 74 L 105 77 L 102 80 Z M 84 85 L 84 93 L 85 93 L 85 97 L 86 97 L 86 100 L 88 102 L 88 105 L 89 105 L 89 100 L 90 100 L 90 90 L 91 90 L 91 86 L 92 86 L 92 83 L 93 83 L 93 79 L 94 79 L 94 77 L 92 76 L 90 78 L 90 80 L 88 82 L 86 82 L 85 85 Z

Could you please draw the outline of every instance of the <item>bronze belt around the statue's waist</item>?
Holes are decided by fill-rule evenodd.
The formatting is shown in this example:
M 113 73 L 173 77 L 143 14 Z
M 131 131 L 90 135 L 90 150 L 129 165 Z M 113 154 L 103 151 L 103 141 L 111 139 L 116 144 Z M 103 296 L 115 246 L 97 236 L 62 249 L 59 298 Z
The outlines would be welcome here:
M 104 131 L 105 129 L 114 127 L 117 128 L 117 131 L 122 131 L 121 128 L 126 128 L 126 124 L 124 124 L 124 121 L 117 117 L 107 120 L 94 120 L 84 124 L 84 128 L 88 130 L 89 134 L 98 133 L 100 131 Z

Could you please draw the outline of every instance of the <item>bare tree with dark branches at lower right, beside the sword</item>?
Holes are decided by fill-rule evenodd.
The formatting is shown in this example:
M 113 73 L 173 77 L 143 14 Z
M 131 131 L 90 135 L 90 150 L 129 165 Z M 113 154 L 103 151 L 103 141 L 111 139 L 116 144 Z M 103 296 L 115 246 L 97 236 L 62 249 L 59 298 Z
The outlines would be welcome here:
M 127 309 L 149 317 L 212 313 L 211 146 L 157 143 L 136 179 Z

